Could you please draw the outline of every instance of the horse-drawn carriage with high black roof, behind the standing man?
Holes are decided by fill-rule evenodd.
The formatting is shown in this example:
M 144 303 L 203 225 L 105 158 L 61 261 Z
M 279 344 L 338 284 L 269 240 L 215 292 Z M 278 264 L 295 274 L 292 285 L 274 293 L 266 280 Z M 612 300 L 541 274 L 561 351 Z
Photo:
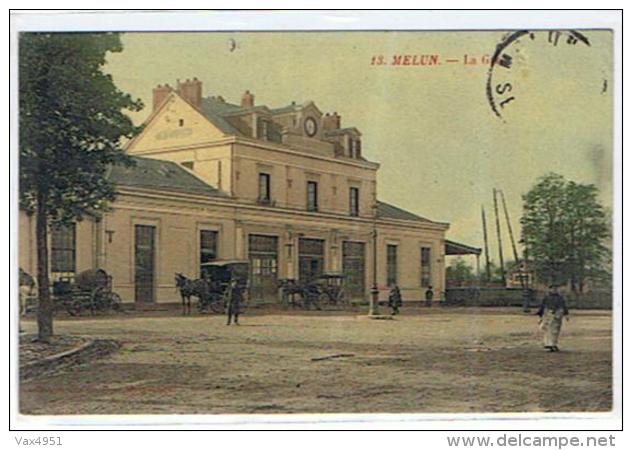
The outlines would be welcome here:
M 243 292 L 248 291 L 250 263 L 245 260 L 212 261 L 200 266 L 202 277 L 193 280 L 176 273 L 176 287 L 182 297 L 183 312 L 191 312 L 191 297 L 198 298 L 198 311 L 221 313 L 225 307 L 231 280 Z

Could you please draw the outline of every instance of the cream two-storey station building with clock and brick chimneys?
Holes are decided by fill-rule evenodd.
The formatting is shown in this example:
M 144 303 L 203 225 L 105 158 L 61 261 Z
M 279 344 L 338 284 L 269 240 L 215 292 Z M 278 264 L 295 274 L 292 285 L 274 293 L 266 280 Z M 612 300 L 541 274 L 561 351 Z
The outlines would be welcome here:
M 250 260 L 253 302 L 278 301 L 277 280 L 344 273 L 346 292 L 439 299 L 448 224 L 378 200 L 379 164 L 361 132 L 313 102 L 239 104 L 202 95 L 197 80 L 159 85 L 145 128 L 127 145 L 136 164 L 112 167 L 118 196 L 100 220 L 50 236 L 51 279 L 91 268 L 136 305 L 179 300 L 174 274 L 213 260 Z M 420 199 L 422 197 L 420 196 Z M 36 271 L 35 218 L 21 212 L 20 267 Z

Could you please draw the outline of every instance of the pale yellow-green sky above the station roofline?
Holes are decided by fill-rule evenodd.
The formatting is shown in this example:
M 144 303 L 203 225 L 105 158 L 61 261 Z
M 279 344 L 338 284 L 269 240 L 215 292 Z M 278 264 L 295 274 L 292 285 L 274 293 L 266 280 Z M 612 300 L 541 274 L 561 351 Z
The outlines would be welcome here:
M 484 206 L 497 261 L 494 188 L 504 192 L 517 238 L 522 195 L 549 172 L 597 185 L 611 208 L 612 35 L 581 33 L 590 45 L 569 43 L 566 33 L 555 45 L 537 31 L 506 48 L 510 67 L 491 73 L 501 118 L 486 86 L 506 31 L 126 33 L 105 71 L 144 101 L 136 122 L 149 115 L 153 87 L 193 77 L 203 95 L 233 103 L 248 89 L 256 104 L 312 100 L 336 111 L 343 127 L 362 133 L 363 155 L 381 164 L 381 200 L 449 222 L 448 239 L 476 247 Z M 408 65 L 393 64 L 405 55 Z M 412 65 L 420 55 L 436 55 L 437 64 Z M 504 220 L 501 228 L 512 259 Z

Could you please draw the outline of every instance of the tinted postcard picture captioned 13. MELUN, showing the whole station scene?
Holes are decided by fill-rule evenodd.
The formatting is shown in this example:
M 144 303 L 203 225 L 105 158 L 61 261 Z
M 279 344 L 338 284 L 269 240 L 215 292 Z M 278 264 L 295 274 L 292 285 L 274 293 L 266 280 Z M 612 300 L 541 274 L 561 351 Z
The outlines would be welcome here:
M 19 29 L 19 414 L 620 411 L 618 37 L 496 25 Z

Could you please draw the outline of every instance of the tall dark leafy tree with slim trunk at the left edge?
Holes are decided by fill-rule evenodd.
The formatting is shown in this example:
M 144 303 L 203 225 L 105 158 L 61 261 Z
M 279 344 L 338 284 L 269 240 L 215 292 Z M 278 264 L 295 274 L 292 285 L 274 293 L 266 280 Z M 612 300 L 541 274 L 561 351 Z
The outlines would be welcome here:
M 98 217 L 115 196 L 111 164 L 131 164 L 121 143 L 138 133 L 125 110 L 143 105 L 102 71 L 120 52 L 117 33 L 23 33 L 19 37 L 20 206 L 36 216 L 38 336 L 53 334 L 48 231 Z

